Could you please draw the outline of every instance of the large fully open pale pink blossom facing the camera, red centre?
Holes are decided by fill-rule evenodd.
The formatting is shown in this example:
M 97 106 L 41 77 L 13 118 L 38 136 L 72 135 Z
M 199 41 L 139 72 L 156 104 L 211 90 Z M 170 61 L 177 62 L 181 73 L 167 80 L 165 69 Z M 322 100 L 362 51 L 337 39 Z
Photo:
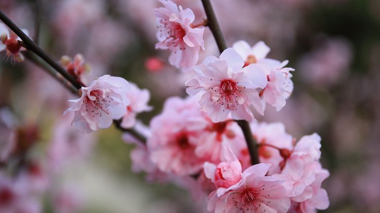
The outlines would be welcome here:
M 232 48 L 219 58 L 207 57 L 195 66 L 195 77 L 186 82 L 189 95 L 199 93 L 199 103 L 213 122 L 224 121 L 230 114 L 237 120 L 254 120 L 252 109 L 263 114 L 257 88 L 267 85 L 264 71 L 251 64 L 243 68 L 243 59 Z M 249 79 L 249 80 L 248 80 Z

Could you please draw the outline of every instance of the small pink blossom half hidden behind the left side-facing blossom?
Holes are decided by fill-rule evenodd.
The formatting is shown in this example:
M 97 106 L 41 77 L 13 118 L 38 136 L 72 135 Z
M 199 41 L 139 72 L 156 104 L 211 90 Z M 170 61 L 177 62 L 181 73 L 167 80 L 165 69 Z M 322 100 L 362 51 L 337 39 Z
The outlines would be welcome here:
M 130 103 L 127 106 L 127 112 L 121 123 L 121 126 L 124 128 L 131 128 L 135 125 L 138 113 L 148 112 L 152 109 L 152 107 L 147 105 L 150 98 L 149 91 L 147 89 L 140 89 L 133 83 L 130 83 L 130 86 L 130 90 L 126 94 Z

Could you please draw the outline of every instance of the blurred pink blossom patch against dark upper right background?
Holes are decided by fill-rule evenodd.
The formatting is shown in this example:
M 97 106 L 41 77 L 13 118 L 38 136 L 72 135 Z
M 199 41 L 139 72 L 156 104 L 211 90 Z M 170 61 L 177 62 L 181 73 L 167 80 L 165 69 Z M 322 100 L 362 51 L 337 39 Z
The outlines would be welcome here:
M 352 57 L 353 50 L 348 41 L 329 38 L 305 54 L 297 67 L 305 82 L 315 86 L 332 86 L 347 76 Z

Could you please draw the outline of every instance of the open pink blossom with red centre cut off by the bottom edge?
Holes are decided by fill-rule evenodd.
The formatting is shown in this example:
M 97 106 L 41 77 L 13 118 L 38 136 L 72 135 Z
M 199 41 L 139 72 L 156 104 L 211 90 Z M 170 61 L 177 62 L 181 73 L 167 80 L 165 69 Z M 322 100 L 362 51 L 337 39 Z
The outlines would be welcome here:
M 210 212 L 286 212 L 290 199 L 281 185 L 283 180 L 265 176 L 271 164 L 259 163 L 247 168 L 242 179 L 222 195 L 210 194 Z

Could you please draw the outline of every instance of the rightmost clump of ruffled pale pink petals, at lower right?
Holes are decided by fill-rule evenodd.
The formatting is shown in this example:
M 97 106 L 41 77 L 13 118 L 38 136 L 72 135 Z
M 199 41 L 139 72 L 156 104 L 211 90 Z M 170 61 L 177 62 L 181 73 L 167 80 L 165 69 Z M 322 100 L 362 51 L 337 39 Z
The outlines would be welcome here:
M 304 208 L 300 212 L 315 212 L 315 208 L 325 209 L 329 205 L 326 191 L 320 188 L 322 181 L 329 176 L 318 161 L 320 141 L 321 137 L 316 133 L 303 136 L 286 159 L 281 173 L 275 174 L 286 180 L 283 186 L 287 195 L 299 203 L 298 207 Z

